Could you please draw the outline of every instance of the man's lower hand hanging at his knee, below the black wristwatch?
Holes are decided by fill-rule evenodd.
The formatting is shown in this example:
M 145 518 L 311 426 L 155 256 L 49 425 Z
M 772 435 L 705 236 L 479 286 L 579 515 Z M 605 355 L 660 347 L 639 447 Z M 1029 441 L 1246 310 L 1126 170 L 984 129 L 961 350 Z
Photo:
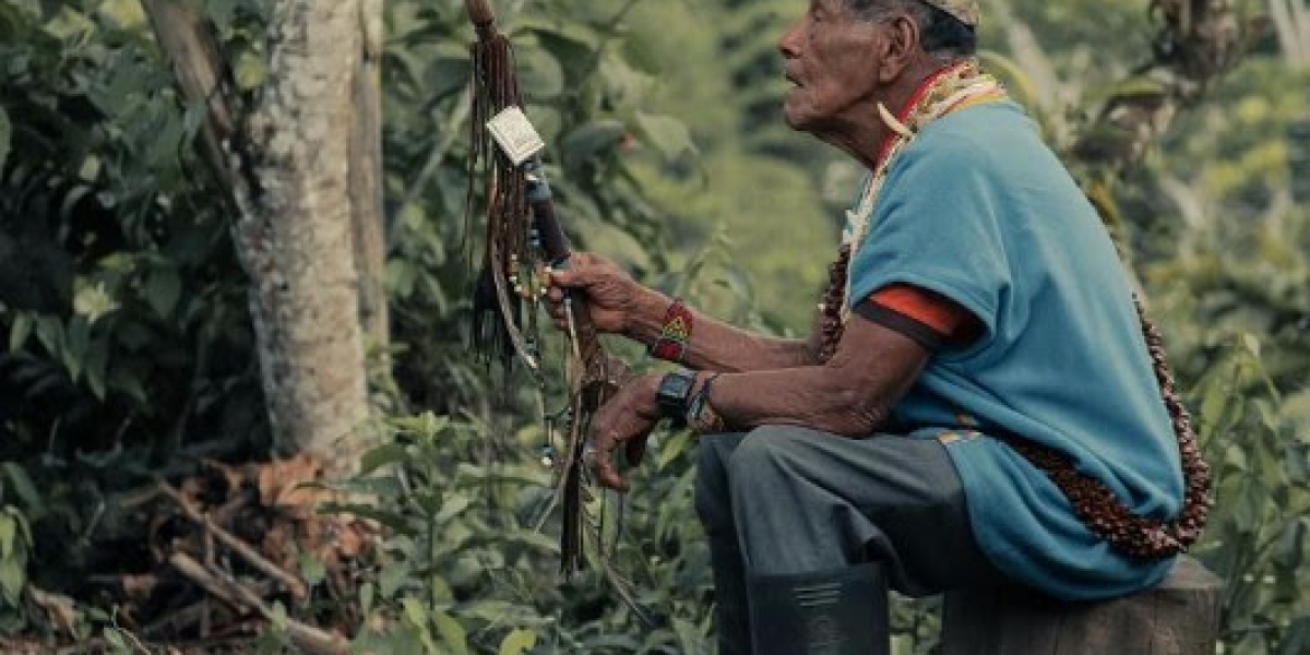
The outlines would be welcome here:
M 634 377 L 592 417 L 583 462 L 601 485 L 618 490 L 627 487 L 614 468 L 614 451 L 620 444 L 626 447 L 629 464 L 641 464 L 646 438 L 660 419 L 655 402 L 659 380 L 658 375 Z

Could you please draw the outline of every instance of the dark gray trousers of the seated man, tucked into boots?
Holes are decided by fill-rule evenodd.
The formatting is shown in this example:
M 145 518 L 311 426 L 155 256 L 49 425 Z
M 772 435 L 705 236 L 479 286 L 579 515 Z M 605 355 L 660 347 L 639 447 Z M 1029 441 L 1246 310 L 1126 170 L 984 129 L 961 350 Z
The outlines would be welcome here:
M 696 512 L 710 541 L 719 655 L 751 654 L 747 576 L 886 566 L 910 596 L 988 586 L 946 448 L 789 426 L 701 439 Z

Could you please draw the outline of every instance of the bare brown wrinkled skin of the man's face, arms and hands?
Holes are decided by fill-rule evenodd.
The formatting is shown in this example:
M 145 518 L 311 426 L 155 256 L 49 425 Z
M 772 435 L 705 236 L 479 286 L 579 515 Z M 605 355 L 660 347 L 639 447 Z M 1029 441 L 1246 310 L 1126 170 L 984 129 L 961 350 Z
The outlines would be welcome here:
M 878 105 L 901 107 L 941 64 L 920 47 L 907 16 L 866 21 L 842 0 L 814 0 L 783 34 L 778 50 L 795 88 L 783 107 L 789 126 L 874 166 L 889 131 Z M 601 257 L 578 253 L 567 270 L 552 271 L 549 300 L 563 326 L 565 290 L 586 293 L 597 330 L 650 346 L 672 300 L 641 286 Z M 732 430 L 796 424 L 836 435 L 874 431 L 918 377 L 927 352 L 909 338 L 862 318 L 846 326 L 836 355 L 816 356 L 817 341 L 777 339 L 696 313 L 681 363 L 722 375 L 710 406 Z M 635 377 L 592 421 L 588 465 L 607 486 L 625 482 L 613 461 L 624 444 L 641 449 L 659 422 L 659 376 Z

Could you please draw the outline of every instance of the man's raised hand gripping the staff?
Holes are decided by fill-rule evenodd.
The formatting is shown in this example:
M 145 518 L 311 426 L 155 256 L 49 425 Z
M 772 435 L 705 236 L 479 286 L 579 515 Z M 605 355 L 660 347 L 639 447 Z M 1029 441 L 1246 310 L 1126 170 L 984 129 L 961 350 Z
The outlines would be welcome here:
M 654 293 L 614 262 L 591 253 L 574 253 L 569 258 L 569 269 L 550 271 L 549 282 L 550 316 L 561 330 L 567 322 L 565 290 L 584 293 L 592 325 L 597 331 L 609 334 L 629 334 L 641 303 Z

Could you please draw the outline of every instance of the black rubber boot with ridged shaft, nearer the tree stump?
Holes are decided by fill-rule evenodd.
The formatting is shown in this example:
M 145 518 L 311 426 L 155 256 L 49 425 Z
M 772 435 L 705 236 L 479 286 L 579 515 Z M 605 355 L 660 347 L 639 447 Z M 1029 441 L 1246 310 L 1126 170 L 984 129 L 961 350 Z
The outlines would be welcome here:
M 887 572 L 869 563 L 752 576 L 755 655 L 888 655 Z

